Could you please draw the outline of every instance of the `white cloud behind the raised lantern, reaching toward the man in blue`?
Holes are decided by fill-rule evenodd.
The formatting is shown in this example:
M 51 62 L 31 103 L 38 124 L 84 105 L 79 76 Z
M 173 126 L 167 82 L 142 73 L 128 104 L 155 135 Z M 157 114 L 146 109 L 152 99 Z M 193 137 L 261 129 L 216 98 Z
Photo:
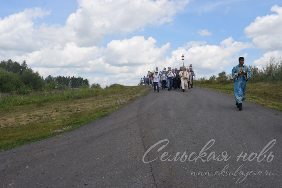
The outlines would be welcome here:
M 172 51 L 172 57 L 167 58 L 166 63 L 179 67 L 182 65 L 181 56 L 184 53 L 184 66 L 192 64 L 202 74 L 212 75 L 213 71 L 222 70 L 237 61 L 240 51 L 251 47 L 251 43 L 237 42 L 232 37 L 221 41 L 220 46 L 208 45 L 204 41 L 191 41 L 187 46 Z

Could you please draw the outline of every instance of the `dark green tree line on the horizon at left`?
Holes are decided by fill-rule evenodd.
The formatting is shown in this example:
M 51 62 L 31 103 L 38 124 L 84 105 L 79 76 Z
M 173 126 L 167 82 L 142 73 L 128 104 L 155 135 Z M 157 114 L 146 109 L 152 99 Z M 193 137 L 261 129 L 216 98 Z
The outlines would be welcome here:
M 21 64 L 17 61 L 0 62 L 0 92 L 15 92 L 27 94 L 31 91 L 43 89 L 64 89 L 64 88 L 89 88 L 89 80 L 82 77 L 48 75 L 45 79 L 40 76 L 38 71 L 34 72 L 28 68 L 26 61 Z M 100 84 L 94 83 L 91 88 L 101 88 Z

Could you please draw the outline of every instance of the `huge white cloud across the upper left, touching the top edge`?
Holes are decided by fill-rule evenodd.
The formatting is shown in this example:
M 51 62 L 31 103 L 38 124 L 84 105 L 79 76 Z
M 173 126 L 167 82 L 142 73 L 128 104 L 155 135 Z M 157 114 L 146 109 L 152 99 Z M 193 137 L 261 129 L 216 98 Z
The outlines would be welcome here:
M 40 8 L 25 9 L 4 19 L 0 18 L 0 48 L 22 53 L 59 44 L 97 46 L 106 34 L 126 34 L 146 26 L 171 23 L 184 9 L 188 0 L 180 1 L 89 1 L 79 0 L 79 7 L 70 14 L 66 24 L 35 24 L 36 19 L 51 14 Z

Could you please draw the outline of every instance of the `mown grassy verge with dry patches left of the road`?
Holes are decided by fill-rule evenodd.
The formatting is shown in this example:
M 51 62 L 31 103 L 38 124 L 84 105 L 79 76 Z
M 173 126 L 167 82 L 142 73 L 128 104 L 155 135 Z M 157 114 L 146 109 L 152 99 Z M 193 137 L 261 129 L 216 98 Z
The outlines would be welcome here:
M 0 99 L 0 151 L 71 131 L 136 100 L 149 87 L 115 85 Z

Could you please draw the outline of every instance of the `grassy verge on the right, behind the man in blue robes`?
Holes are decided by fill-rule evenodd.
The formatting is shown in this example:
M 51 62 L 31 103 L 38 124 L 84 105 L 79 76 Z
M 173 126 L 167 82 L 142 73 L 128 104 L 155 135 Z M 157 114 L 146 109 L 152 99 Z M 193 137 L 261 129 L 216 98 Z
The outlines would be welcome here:
M 234 95 L 233 83 L 230 84 L 194 84 L 195 86 L 212 89 L 228 95 Z M 281 82 L 248 82 L 246 86 L 246 100 L 257 105 L 282 111 L 282 83 Z

